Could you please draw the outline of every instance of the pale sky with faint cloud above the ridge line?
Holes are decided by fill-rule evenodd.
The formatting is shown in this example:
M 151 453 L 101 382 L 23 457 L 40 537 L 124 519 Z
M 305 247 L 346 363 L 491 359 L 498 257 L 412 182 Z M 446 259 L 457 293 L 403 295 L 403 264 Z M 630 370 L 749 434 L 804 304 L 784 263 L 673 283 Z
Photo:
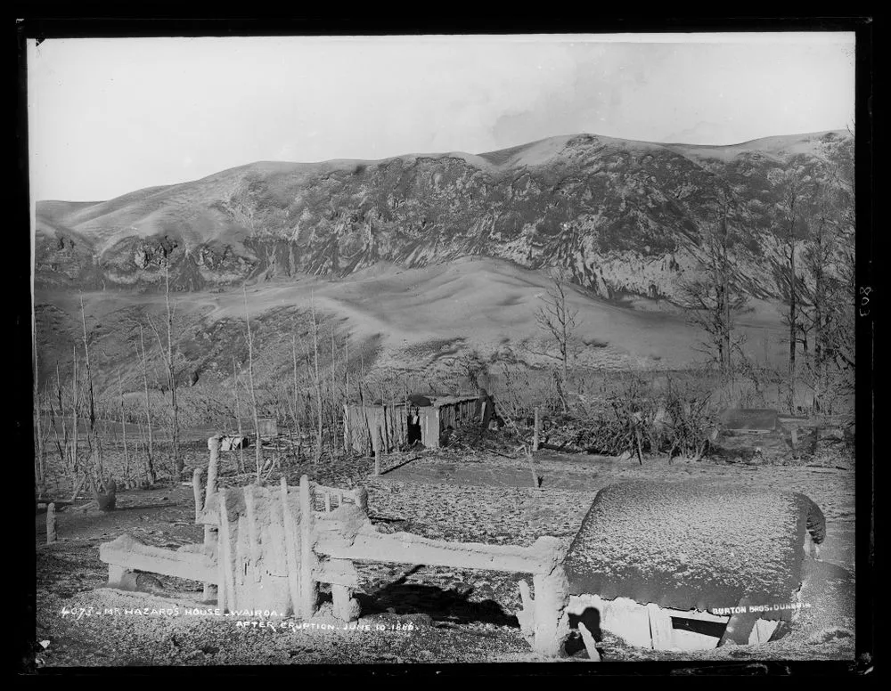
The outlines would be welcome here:
M 732 144 L 854 118 L 853 33 L 66 38 L 29 41 L 27 60 L 34 200 L 257 160 L 580 133 Z

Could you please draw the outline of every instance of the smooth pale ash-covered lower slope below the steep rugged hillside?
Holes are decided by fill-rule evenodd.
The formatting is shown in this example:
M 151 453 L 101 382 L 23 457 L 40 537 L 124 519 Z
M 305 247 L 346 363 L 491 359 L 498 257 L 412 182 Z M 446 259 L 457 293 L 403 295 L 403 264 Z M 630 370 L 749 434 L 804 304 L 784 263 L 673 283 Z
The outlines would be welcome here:
M 425 381 L 437 381 L 459 372 L 468 354 L 489 363 L 495 373 L 503 365 L 552 365 L 547 354 L 556 350 L 535 323 L 539 297 L 548 287 L 543 271 L 502 260 L 468 258 L 416 269 L 376 264 L 336 281 L 270 280 L 245 293 L 174 295 L 177 378 L 182 386 L 199 383 L 193 395 L 200 400 L 205 385 L 212 387 L 232 377 L 233 366 L 244 376 L 247 310 L 257 386 L 274 390 L 290 382 L 294 348 L 303 372 L 307 349 L 313 347 L 310 305 L 315 305 L 321 321 L 323 367 L 330 362 L 332 332 L 339 362 L 348 347 L 356 375 L 360 370 L 365 374 L 411 371 Z M 141 390 L 137 355 L 141 332 L 152 386 L 163 386 L 164 295 L 105 290 L 85 293 L 84 299 L 97 391 L 116 401 L 119 372 L 125 391 Z M 683 315 L 655 309 L 646 299 L 637 301 L 634 307 L 638 309 L 634 309 L 584 289 L 571 289 L 568 305 L 578 313 L 574 366 L 612 371 L 674 369 L 701 359 L 694 348 L 702 334 Z M 40 366 L 44 382 L 51 387 L 57 365 L 63 377 L 70 372 L 71 346 L 82 333 L 80 319 L 77 294 L 45 290 L 38 296 Z M 152 323 L 159 335 L 151 329 Z M 740 329 L 756 358 L 781 362 L 781 324 L 771 305 L 754 301 L 752 310 L 740 317 Z

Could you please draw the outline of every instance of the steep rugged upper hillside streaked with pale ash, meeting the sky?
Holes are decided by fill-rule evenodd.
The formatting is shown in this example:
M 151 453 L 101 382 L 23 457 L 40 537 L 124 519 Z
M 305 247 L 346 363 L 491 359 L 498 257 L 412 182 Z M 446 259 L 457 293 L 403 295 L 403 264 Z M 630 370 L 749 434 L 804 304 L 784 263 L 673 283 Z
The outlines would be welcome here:
M 775 169 L 824 175 L 847 133 L 724 147 L 580 134 L 480 155 L 262 162 L 109 201 L 37 204 L 38 286 L 175 289 L 300 274 L 345 277 L 463 256 L 558 266 L 601 297 L 673 298 L 718 199 L 738 205 L 734 260 L 776 297 Z M 765 270 L 766 269 L 766 270 Z

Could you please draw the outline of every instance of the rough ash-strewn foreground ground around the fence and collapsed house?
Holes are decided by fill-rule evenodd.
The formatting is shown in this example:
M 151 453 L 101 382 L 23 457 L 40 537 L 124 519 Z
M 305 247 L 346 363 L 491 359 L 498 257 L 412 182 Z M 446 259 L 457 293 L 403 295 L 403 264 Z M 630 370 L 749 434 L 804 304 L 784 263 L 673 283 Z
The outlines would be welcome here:
M 286 474 L 289 481 L 306 472 L 323 484 L 364 484 L 369 513 L 380 530 L 518 545 L 531 545 L 542 535 L 568 545 L 596 492 L 623 480 L 708 479 L 802 492 L 827 519 L 822 559 L 805 563 L 801 595 L 811 606 L 781 640 L 684 653 L 681 659 L 854 659 L 854 465 L 838 451 L 806 464 L 645 459 L 643 465 L 636 459 L 543 451 L 535 456 L 541 489 L 532 486 L 533 471 L 522 454 L 418 451 L 384 460 L 384 467 L 392 469 L 376 477 L 371 459 L 352 459 L 337 467 L 304 464 Z M 235 474 L 231 465 L 224 463 L 225 485 L 251 481 L 252 476 Z M 360 565 L 363 617 L 357 630 L 345 630 L 331 617 L 330 594 L 324 591 L 323 606 L 312 622 L 290 618 L 261 626 L 257 617 L 219 616 L 213 614 L 214 603 L 199 605 L 200 584 L 193 581 L 162 578 L 162 595 L 104 588 L 107 569 L 98 558 L 102 542 L 122 532 L 169 549 L 200 542 L 202 529 L 192 523 L 192 502 L 190 487 L 170 483 L 120 493 L 118 510 L 110 514 L 72 506 L 58 514 L 59 541 L 53 545 L 43 544 L 45 515 L 37 515 L 35 668 L 544 662 L 521 636 L 515 617 L 517 584 L 527 574 Z M 599 646 L 605 662 L 679 657 L 626 646 L 609 634 Z M 584 651 L 567 661 L 582 662 L 587 662 Z

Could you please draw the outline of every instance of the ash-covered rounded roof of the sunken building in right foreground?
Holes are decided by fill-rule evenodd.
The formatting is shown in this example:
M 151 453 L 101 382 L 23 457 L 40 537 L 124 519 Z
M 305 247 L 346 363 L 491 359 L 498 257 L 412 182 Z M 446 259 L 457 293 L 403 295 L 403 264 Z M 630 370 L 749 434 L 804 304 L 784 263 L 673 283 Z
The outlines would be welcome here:
M 808 527 L 821 541 L 822 513 L 802 494 L 715 483 L 610 485 L 569 548 L 570 589 L 674 609 L 737 606 L 745 596 L 788 604 L 800 586 Z

